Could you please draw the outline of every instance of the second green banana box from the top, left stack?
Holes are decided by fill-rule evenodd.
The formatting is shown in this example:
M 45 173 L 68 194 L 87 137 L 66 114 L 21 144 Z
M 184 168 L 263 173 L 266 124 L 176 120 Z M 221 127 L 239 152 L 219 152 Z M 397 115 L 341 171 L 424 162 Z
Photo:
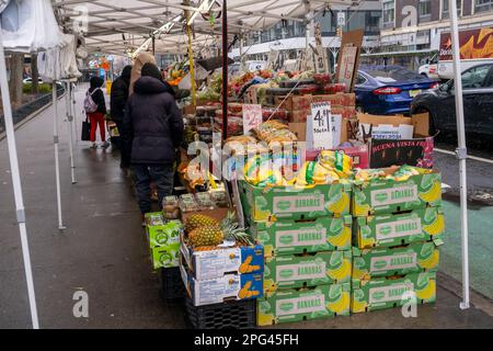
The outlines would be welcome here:
M 253 222 L 249 233 L 264 246 L 266 258 L 319 251 L 351 250 L 353 217 L 320 217 L 311 220 Z

